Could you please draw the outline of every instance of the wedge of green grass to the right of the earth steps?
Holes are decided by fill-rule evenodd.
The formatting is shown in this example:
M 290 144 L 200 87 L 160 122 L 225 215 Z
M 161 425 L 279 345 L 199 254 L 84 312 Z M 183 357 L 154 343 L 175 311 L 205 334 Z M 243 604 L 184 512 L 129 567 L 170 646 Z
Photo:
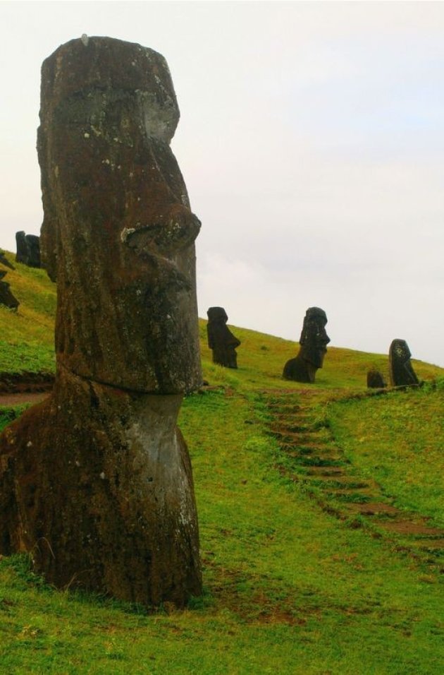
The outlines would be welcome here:
M 400 508 L 444 527 L 444 378 L 438 387 L 393 392 L 330 407 L 347 458 Z

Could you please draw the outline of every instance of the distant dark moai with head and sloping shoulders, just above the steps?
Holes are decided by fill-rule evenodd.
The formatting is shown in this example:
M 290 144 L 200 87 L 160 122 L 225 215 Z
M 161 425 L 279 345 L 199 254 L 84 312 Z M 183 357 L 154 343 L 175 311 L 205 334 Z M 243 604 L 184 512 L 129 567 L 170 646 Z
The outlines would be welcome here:
M 327 315 L 319 307 L 309 307 L 304 317 L 299 340 L 299 354 L 290 359 L 283 369 L 285 380 L 314 382 L 316 370 L 322 368 L 330 337 L 326 333 Z

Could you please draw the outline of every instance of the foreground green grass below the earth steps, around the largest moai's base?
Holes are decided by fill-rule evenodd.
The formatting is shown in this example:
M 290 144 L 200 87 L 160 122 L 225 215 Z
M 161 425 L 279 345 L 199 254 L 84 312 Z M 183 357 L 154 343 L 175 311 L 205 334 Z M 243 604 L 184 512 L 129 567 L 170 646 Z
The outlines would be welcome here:
M 254 403 L 187 398 L 205 595 L 149 615 L 0 563 L 0 667 L 11 673 L 436 673 L 443 587 L 323 513 L 274 469 Z

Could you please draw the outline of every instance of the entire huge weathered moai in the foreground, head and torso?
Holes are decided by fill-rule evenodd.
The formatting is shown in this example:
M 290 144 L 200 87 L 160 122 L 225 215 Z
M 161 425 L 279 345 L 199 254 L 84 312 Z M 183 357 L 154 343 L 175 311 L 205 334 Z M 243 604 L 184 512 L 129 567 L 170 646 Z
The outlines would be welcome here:
M 190 459 L 200 223 L 169 143 L 163 56 L 82 37 L 42 66 L 44 264 L 56 384 L 0 440 L 0 552 L 57 587 L 183 605 L 202 585 Z

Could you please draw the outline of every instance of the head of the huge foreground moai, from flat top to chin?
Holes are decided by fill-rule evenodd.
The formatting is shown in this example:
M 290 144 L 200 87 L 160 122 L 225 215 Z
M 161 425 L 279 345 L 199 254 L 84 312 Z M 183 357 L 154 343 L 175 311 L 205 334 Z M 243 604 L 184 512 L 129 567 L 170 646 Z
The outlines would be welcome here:
M 169 143 L 179 110 L 163 56 L 71 40 L 42 66 L 44 266 L 57 280 L 56 355 L 145 393 L 199 386 L 200 222 Z

